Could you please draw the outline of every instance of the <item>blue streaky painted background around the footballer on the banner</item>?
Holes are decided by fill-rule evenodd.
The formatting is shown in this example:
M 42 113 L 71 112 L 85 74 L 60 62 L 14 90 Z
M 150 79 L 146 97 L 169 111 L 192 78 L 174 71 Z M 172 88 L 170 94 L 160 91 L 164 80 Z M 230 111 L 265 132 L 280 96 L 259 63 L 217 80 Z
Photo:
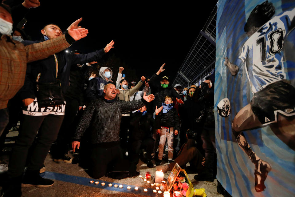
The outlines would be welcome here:
M 295 196 L 295 152 L 278 139 L 269 126 L 244 131 L 253 151 L 272 167 L 265 180 L 265 191 L 258 193 L 254 189 L 254 164 L 238 146 L 231 131 L 234 116 L 250 103 L 253 94 L 245 68 L 241 67 L 238 74 L 232 76 L 223 65 L 223 58 L 227 56 L 231 62 L 237 62 L 242 46 L 248 39 L 244 25 L 255 6 L 263 2 L 262 0 L 219 0 L 217 4 L 214 90 L 217 178 L 234 197 Z M 269 2 L 272 2 L 276 8 L 274 16 L 295 7 L 295 1 L 291 0 L 269 0 Z M 295 41 L 294 36 L 288 39 L 293 43 Z M 287 65 L 287 62 L 284 62 L 287 78 L 292 81 L 295 78 L 295 63 L 292 60 Z M 230 116 L 222 118 L 218 115 L 216 107 L 219 101 L 226 97 L 230 100 L 231 112 Z

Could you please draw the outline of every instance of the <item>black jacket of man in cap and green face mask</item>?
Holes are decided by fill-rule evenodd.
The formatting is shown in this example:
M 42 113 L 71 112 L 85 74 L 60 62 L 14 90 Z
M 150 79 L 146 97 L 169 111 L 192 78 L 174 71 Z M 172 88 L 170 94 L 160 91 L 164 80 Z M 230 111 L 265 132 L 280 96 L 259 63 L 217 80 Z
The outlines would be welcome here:
M 155 92 L 155 102 L 154 107 L 161 107 L 162 103 L 165 102 L 165 97 L 167 95 L 175 98 L 181 98 L 181 96 L 174 90 L 174 88 L 168 85 L 167 88 L 163 88 L 160 84 L 161 78 L 157 74 L 153 74 L 149 81 L 149 85 L 151 86 L 151 90 Z

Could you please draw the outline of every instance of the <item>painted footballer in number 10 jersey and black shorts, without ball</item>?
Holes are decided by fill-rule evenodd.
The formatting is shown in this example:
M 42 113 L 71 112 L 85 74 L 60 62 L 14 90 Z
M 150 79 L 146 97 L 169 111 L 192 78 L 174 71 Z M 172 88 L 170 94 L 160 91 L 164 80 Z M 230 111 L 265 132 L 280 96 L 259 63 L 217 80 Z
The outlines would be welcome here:
M 252 10 L 244 26 L 249 39 L 237 62 L 240 67 L 245 65 L 254 95 L 250 104 L 235 115 L 232 131 L 238 145 L 255 166 L 257 192 L 266 188 L 264 182 L 271 166 L 255 154 L 242 131 L 273 123 L 270 125 L 272 131 L 295 150 L 295 88 L 286 80 L 283 54 L 284 39 L 294 29 L 295 8 L 273 17 L 274 14 L 275 7 L 268 1 Z M 232 75 L 237 74 L 239 66 L 227 57 L 224 65 Z

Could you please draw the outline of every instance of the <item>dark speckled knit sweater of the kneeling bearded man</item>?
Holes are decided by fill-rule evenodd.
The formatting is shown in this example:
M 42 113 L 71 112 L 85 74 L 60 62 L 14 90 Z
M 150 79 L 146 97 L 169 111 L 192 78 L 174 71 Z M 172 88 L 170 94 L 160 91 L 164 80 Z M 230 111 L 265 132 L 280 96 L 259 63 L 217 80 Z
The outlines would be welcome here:
M 128 102 L 121 100 L 108 102 L 104 98 L 92 100 L 78 123 L 73 141 L 80 141 L 85 130 L 89 127 L 91 143 L 116 145 L 120 141 L 119 132 L 122 113 L 139 109 L 145 103 L 147 102 L 143 98 Z

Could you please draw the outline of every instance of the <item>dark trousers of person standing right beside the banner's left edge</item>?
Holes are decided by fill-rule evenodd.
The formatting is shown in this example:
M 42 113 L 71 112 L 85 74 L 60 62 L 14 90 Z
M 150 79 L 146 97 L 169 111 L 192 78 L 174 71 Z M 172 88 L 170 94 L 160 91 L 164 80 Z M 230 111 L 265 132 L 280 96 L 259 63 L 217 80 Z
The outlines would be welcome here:
M 203 127 L 203 131 L 201 134 L 201 139 L 203 141 L 203 149 L 205 151 L 205 167 L 215 174 L 216 172 L 216 146 L 215 146 L 215 127 Z

